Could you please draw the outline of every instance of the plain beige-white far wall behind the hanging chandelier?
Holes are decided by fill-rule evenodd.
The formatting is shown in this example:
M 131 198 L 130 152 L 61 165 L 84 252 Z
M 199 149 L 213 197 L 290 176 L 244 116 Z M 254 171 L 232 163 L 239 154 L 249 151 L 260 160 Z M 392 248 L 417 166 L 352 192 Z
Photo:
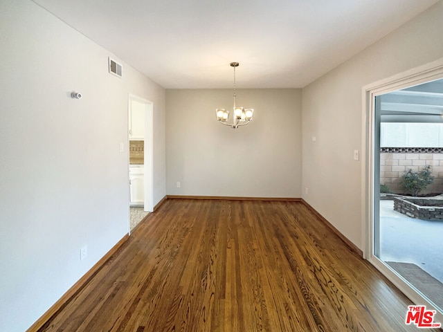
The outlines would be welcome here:
M 168 194 L 300 197 L 299 89 L 237 90 L 237 105 L 255 109 L 238 129 L 215 118 L 232 109 L 233 90 L 168 89 L 166 105 Z

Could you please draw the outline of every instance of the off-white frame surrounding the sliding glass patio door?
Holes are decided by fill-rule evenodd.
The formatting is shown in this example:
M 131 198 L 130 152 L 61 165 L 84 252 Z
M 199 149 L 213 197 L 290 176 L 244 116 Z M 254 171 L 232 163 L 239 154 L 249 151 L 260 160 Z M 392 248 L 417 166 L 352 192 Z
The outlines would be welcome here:
M 374 132 L 377 126 L 374 114 L 374 102 L 377 95 L 389 93 L 391 91 L 404 89 L 408 86 L 422 84 L 424 82 L 438 80 L 443 77 L 443 58 L 435 62 L 431 62 L 424 66 L 411 69 L 404 73 L 400 73 L 393 77 L 363 86 L 363 127 L 362 127 L 362 202 L 361 202 L 361 223 L 363 243 L 363 257 L 368 259 L 383 275 L 388 277 L 409 299 L 415 304 L 426 305 L 428 309 L 434 309 L 435 306 L 428 302 L 416 289 L 411 287 L 406 280 L 394 270 L 389 268 L 383 261 L 376 257 L 374 252 L 374 204 L 376 203 L 376 193 L 374 192 L 374 174 L 378 174 L 374 163 L 374 155 L 376 153 L 374 143 Z M 378 202 L 377 202 L 378 203 Z M 405 311 L 406 317 L 406 311 Z M 437 310 L 434 317 L 435 322 L 443 323 L 443 313 Z

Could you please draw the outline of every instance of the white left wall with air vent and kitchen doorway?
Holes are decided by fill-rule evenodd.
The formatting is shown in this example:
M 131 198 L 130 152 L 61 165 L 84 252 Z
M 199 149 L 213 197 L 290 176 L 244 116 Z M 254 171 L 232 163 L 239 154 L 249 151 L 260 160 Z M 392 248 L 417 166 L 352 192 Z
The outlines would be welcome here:
M 127 234 L 128 93 L 154 102 L 165 195 L 165 91 L 35 3 L 0 7 L 0 331 L 24 331 Z

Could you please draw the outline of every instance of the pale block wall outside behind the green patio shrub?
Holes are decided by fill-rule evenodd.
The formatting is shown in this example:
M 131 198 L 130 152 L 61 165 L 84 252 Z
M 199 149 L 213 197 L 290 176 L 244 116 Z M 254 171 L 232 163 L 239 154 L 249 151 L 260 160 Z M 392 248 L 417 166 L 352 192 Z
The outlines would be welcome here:
M 420 194 L 443 193 L 443 149 L 438 148 L 381 148 L 380 184 L 395 194 L 404 194 L 401 176 L 408 170 L 421 171 L 431 165 L 434 183 Z

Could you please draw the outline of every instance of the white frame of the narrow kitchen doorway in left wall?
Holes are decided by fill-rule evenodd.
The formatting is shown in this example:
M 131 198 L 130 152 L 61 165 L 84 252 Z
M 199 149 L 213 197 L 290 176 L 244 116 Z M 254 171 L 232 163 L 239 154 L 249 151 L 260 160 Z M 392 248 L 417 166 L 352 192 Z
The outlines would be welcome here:
M 144 210 L 146 212 L 154 211 L 154 103 L 129 93 L 128 96 L 128 122 L 131 110 L 131 101 L 136 100 L 145 104 L 145 143 L 144 143 Z M 127 137 L 129 139 L 129 126 Z M 129 174 L 129 155 L 128 155 L 128 174 Z M 128 181 L 129 185 L 129 181 Z M 129 186 L 128 186 L 129 192 Z

